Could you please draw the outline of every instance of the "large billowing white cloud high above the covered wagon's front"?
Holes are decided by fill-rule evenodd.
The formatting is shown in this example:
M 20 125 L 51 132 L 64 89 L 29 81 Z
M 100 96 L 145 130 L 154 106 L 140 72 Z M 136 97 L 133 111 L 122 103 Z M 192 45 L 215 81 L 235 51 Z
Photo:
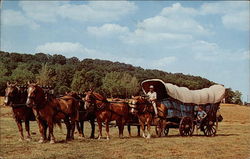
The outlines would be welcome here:
M 122 39 L 132 44 L 173 41 L 178 43 L 211 34 L 211 31 L 195 20 L 194 16 L 197 14 L 197 10 L 175 3 L 171 7 L 163 8 L 158 15 L 138 22 L 135 31 Z

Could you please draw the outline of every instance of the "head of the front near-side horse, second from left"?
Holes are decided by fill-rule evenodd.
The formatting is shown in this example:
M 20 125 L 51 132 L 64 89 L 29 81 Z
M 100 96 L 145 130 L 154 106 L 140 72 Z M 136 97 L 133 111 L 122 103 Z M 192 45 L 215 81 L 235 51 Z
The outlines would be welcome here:
M 26 100 L 26 105 L 30 108 L 37 108 L 45 100 L 45 94 L 41 87 L 38 86 L 38 83 L 29 83 L 27 89 L 28 97 Z

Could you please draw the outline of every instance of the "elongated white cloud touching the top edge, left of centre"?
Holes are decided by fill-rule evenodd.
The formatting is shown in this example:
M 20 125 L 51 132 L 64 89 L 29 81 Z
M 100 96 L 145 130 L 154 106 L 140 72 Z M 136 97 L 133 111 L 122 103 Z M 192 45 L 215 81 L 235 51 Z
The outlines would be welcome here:
M 134 12 L 137 6 L 128 1 L 90 1 L 88 4 L 62 5 L 58 14 L 77 21 L 110 22 Z

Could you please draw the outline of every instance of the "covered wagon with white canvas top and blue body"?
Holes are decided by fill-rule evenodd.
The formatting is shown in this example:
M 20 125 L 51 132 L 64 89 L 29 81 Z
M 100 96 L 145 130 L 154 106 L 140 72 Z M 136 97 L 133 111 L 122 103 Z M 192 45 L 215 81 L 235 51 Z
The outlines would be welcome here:
M 179 128 L 180 135 L 191 136 L 197 125 L 197 108 L 202 107 L 207 113 L 202 120 L 199 129 L 206 136 L 214 136 L 218 128 L 217 111 L 221 100 L 225 95 L 222 85 L 212 85 L 200 90 L 189 90 L 186 87 L 178 87 L 171 83 L 165 83 L 160 79 L 148 79 L 141 83 L 142 90 L 146 94 L 149 86 L 153 85 L 157 93 L 157 100 L 168 108 L 165 135 L 169 128 Z

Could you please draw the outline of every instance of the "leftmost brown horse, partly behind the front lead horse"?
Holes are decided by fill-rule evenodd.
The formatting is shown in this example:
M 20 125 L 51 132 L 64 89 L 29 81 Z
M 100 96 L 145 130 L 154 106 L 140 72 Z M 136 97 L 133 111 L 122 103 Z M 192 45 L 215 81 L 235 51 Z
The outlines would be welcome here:
M 11 106 L 13 111 L 13 117 L 17 123 L 20 132 L 20 141 L 24 140 L 22 121 L 25 122 L 25 129 L 27 131 L 27 141 L 31 140 L 29 121 L 35 121 L 35 115 L 31 108 L 25 105 L 27 99 L 27 91 L 24 88 L 17 87 L 15 84 L 7 83 L 5 89 L 4 104 Z

